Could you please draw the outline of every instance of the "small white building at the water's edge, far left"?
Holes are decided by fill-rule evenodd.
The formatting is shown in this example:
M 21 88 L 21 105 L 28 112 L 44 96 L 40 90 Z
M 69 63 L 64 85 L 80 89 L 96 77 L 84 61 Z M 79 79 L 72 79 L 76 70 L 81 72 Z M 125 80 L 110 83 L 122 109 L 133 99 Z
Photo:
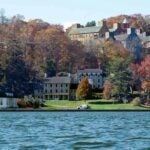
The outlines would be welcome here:
M 0 98 L 0 108 L 17 108 L 17 99 L 2 97 Z

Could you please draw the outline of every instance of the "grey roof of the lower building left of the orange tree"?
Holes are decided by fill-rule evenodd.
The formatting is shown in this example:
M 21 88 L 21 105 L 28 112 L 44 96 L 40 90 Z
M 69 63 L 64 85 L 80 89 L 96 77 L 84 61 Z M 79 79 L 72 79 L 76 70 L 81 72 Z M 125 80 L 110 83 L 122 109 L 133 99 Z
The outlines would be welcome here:
M 71 78 L 70 77 L 51 77 L 51 78 L 45 78 L 45 83 L 70 83 Z

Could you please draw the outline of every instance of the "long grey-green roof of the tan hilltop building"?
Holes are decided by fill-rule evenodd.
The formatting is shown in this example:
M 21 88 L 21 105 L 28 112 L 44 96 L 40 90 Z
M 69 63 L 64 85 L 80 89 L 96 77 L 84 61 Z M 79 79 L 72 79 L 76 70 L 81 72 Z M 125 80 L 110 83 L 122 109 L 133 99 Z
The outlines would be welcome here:
M 84 27 L 71 29 L 69 34 L 85 34 L 85 33 L 97 33 L 100 32 L 101 26 Z

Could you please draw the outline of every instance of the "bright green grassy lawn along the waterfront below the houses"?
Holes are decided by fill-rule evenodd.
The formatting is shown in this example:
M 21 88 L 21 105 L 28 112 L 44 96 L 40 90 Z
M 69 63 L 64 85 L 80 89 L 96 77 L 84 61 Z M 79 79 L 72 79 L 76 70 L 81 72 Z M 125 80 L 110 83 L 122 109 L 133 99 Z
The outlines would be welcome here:
M 77 109 L 82 104 L 88 104 L 92 110 L 145 110 L 142 106 L 133 106 L 131 104 L 113 104 L 112 101 L 108 100 L 87 100 L 87 101 L 46 101 L 46 107 L 42 109 L 50 110 L 65 110 L 65 109 Z

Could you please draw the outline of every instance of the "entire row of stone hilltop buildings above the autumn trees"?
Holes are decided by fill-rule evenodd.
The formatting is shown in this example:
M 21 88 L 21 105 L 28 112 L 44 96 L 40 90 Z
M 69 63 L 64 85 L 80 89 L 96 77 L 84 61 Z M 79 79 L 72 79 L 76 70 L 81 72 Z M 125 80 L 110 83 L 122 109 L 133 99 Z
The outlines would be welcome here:
M 125 48 L 134 54 L 137 60 L 140 58 L 142 48 L 149 51 L 150 36 L 147 36 L 141 29 L 132 28 L 127 18 L 121 23 L 114 23 L 112 28 L 108 28 L 106 21 L 103 20 L 97 26 L 83 27 L 80 24 L 74 24 L 68 31 L 71 40 L 78 40 L 83 44 L 89 41 L 107 39 L 119 41 Z

